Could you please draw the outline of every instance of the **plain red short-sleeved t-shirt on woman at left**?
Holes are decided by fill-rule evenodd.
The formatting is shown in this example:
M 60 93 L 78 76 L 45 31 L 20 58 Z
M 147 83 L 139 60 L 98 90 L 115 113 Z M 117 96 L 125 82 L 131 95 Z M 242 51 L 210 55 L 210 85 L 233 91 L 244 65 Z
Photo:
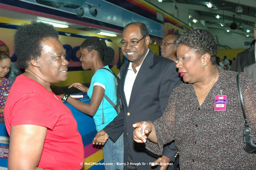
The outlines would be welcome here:
M 32 124 L 47 128 L 38 167 L 46 170 L 80 170 L 84 162 L 82 137 L 73 114 L 41 84 L 20 75 L 16 78 L 4 107 L 4 120 L 11 126 Z

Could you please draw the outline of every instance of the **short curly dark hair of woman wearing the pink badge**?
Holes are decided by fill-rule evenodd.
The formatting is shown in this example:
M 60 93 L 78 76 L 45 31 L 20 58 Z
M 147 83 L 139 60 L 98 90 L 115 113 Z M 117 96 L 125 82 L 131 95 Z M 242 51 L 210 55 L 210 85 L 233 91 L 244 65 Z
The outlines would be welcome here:
M 214 37 L 204 29 L 191 29 L 178 36 L 174 41 L 176 46 L 183 44 L 191 49 L 193 53 L 211 55 L 211 63 L 216 64 L 216 43 Z

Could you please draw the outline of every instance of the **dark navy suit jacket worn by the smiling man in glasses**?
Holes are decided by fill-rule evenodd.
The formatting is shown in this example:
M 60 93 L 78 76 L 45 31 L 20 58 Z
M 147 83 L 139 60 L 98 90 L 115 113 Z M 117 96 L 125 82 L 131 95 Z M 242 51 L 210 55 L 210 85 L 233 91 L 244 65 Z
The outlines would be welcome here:
M 137 170 L 149 170 L 151 169 L 149 163 L 155 161 L 157 155 L 146 150 L 145 144 L 138 144 L 134 141 L 132 124 L 138 121 L 154 121 L 161 117 L 167 106 L 170 93 L 182 81 L 176 71 L 175 62 L 165 57 L 154 55 L 149 50 L 135 79 L 129 106 L 127 106 L 124 84 L 129 63 L 127 61 L 120 69 L 120 91 L 124 110 L 104 130 L 113 141 L 116 141 L 124 132 L 125 162 L 129 144 L 134 163 L 141 163 L 140 166 L 136 166 Z M 164 150 L 164 155 L 174 161 L 177 152 L 174 142 L 166 146 Z M 142 165 L 142 163 L 145 163 L 145 165 Z M 169 166 L 170 169 L 172 167 Z M 159 166 L 156 169 L 159 169 Z

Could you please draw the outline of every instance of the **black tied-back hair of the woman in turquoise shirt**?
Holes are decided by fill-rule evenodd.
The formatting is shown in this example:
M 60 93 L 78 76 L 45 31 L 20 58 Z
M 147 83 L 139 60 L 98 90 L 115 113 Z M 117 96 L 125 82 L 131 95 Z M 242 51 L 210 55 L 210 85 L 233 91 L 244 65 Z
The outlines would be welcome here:
M 87 48 L 88 51 L 95 50 L 99 54 L 99 59 L 106 65 L 112 64 L 114 61 L 115 51 L 107 46 L 102 38 L 89 37 L 82 44 L 80 48 Z

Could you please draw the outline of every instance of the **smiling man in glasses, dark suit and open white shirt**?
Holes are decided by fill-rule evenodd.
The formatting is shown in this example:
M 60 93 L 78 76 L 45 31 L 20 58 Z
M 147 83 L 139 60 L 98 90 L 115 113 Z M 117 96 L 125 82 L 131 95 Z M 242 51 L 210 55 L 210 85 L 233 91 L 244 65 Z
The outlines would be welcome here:
M 93 144 L 104 144 L 104 139 L 116 141 L 124 132 L 125 170 L 149 170 L 151 162 L 158 158 L 145 149 L 144 144 L 133 140 L 132 124 L 137 121 L 153 121 L 163 115 L 173 88 L 182 83 L 176 63 L 149 49 L 150 37 L 145 24 L 132 22 L 125 26 L 122 33 L 122 53 L 129 61 L 120 69 L 121 99 L 123 110 L 103 130 L 99 131 Z M 107 136 L 107 137 L 106 137 Z M 101 141 L 103 139 L 103 141 Z M 175 161 L 177 149 L 174 142 L 165 147 L 158 162 Z M 165 170 L 162 166 L 160 170 Z M 158 170 L 160 166 L 156 168 Z M 176 165 L 169 166 L 169 170 Z

